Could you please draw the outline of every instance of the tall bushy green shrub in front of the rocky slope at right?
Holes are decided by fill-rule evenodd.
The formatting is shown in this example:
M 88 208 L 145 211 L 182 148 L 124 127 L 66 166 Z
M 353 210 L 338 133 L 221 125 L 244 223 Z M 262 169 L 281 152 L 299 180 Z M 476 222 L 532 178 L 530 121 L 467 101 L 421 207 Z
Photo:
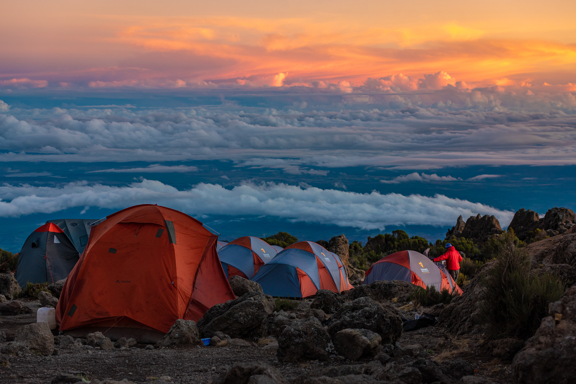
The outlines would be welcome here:
M 490 298 L 480 306 L 482 321 L 493 339 L 528 339 L 548 314 L 548 303 L 558 301 L 564 286 L 555 275 L 530 274 L 530 260 L 519 248 L 514 232 L 501 235 L 498 254 L 480 286 Z

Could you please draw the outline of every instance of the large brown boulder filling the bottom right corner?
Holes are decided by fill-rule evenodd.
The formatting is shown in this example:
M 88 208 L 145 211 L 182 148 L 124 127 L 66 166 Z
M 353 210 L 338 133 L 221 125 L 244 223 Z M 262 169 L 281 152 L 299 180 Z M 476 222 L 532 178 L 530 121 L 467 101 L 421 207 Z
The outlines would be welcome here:
M 536 334 L 512 360 L 518 384 L 568 384 L 576 377 L 576 285 L 550 304 Z

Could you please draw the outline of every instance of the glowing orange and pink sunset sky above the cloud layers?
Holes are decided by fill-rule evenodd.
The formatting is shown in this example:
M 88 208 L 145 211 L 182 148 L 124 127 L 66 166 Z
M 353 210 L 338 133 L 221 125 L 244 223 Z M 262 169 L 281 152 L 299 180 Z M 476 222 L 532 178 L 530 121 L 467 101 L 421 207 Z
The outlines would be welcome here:
M 396 75 L 411 90 L 436 74 L 429 88 L 576 90 L 573 0 L 22 0 L 2 1 L 0 18 L 3 87 L 345 88 Z

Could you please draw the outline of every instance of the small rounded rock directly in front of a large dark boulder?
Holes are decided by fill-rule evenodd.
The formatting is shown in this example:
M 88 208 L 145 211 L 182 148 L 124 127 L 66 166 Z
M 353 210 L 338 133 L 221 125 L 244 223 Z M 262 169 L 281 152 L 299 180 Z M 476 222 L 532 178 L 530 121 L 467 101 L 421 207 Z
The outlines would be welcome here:
M 368 329 L 342 329 L 332 337 L 336 352 L 352 361 L 374 358 L 381 351 L 381 342 L 382 337 Z

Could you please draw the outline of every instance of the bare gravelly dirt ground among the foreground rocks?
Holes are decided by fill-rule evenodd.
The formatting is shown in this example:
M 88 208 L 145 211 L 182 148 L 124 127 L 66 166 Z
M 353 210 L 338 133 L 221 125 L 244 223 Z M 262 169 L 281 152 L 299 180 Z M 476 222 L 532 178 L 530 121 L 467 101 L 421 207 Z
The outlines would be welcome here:
M 6 332 L 7 341 L 13 340 L 16 329 L 36 321 L 37 301 L 26 301 L 34 313 L 17 316 L 0 316 L 0 331 Z M 413 316 L 404 313 L 405 316 Z M 479 352 L 479 336 L 454 338 L 437 327 L 403 332 L 400 345 L 421 344 L 431 359 L 461 358 L 475 368 L 475 375 L 486 377 L 495 383 L 511 383 L 510 362 L 500 362 Z M 268 362 L 288 380 L 328 366 L 366 363 L 369 360 L 350 362 L 335 356 L 327 362 L 279 363 L 275 348 L 260 347 L 192 347 L 185 349 L 145 350 L 137 345 L 128 351 L 100 351 L 86 345 L 59 349 L 53 356 L 14 356 L 8 367 L 0 366 L 0 384 L 50 383 L 58 373 L 81 373 L 87 379 L 128 380 L 136 383 L 149 382 L 162 376 L 175 383 L 209 383 L 228 370 L 235 362 L 260 360 Z M 58 345 L 56 345 L 58 348 Z M 400 358 L 401 359 L 401 358 Z M 404 358 L 406 359 L 406 358 Z

